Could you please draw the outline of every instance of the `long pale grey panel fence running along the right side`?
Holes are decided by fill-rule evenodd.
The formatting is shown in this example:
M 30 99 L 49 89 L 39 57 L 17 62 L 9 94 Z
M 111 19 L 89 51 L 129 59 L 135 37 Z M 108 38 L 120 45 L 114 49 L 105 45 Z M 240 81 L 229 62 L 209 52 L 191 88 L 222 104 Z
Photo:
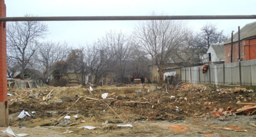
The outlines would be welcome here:
M 181 68 L 182 82 L 256 86 L 256 59 L 226 64 Z

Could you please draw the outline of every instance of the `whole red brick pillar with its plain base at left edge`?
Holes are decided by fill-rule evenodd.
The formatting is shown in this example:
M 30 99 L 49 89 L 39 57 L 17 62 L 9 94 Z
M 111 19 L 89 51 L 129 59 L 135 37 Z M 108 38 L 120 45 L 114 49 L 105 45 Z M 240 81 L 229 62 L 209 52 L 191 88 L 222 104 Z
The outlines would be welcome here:
M 0 0 L 0 17 L 6 17 L 5 0 Z M 9 125 L 7 100 L 6 24 L 0 22 L 0 126 Z

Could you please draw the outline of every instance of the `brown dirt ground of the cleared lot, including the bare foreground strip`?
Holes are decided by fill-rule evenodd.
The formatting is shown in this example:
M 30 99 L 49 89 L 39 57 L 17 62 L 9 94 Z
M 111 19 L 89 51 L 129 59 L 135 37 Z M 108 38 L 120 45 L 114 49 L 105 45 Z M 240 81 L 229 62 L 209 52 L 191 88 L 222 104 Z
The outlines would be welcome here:
M 31 137 L 256 136 L 256 127 L 250 126 L 256 124 L 256 108 L 237 104 L 256 103 L 254 90 L 202 84 L 92 86 L 91 93 L 88 88 L 9 89 L 11 129 Z M 103 93 L 108 93 L 106 99 L 102 99 Z M 50 97 L 43 101 L 48 94 Z M 102 99 L 118 116 L 104 102 L 83 96 Z M 252 109 L 243 111 L 242 107 Z M 18 118 L 22 110 L 31 117 Z M 70 119 L 61 117 L 65 115 L 71 116 Z M 118 127 L 118 124 L 133 127 Z M 97 128 L 88 130 L 81 126 Z M 5 134 L 0 133 L 2 136 Z

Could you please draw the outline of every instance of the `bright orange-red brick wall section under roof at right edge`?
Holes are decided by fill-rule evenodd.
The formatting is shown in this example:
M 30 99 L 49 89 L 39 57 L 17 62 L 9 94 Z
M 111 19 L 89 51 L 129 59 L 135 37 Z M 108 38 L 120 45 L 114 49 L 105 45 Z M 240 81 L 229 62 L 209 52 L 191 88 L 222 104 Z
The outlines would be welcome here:
M 246 60 L 256 59 L 256 38 L 245 40 Z

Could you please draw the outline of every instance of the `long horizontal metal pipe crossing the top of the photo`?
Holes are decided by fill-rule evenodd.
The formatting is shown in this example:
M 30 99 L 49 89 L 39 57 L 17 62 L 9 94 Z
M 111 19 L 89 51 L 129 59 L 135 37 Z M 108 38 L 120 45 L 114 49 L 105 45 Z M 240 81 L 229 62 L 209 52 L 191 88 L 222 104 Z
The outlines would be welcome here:
M 75 21 L 75 20 L 228 20 L 256 19 L 256 15 L 173 15 L 173 16 L 63 16 L 3 17 L 0 21 Z

